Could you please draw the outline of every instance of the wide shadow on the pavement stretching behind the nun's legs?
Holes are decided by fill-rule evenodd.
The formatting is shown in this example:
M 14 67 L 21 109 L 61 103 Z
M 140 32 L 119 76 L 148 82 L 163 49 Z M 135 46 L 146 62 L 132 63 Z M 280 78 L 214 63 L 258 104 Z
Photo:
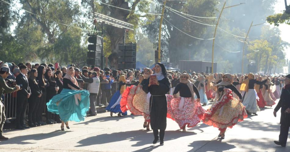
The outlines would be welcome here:
M 166 141 L 168 140 L 174 140 L 179 137 L 192 136 L 192 135 L 196 135 L 196 133 L 194 132 L 183 133 L 183 132 L 180 132 L 179 130 L 178 131 L 165 131 L 164 143 L 166 144 Z M 137 141 L 137 143 L 133 144 L 132 146 L 138 147 L 138 146 L 143 146 L 146 144 L 152 144 L 152 141 L 154 140 L 154 136 L 152 132 L 147 133 L 147 132 L 144 132 L 144 130 L 133 130 L 133 131 L 127 131 L 127 132 L 101 134 L 101 135 L 97 135 L 97 136 L 80 140 L 78 143 L 81 145 L 78 145 L 76 147 L 99 145 L 99 144 L 113 143 L 113 142 L 120 143 L 123 140 Z M 159 144 L 159 142 L 157 144 Z

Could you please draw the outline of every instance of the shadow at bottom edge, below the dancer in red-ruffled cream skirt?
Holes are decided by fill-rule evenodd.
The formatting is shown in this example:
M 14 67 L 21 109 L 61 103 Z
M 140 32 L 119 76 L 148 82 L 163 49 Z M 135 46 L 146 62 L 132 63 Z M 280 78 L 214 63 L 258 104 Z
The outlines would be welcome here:
M 216 140 L 200 140 L 200 141 L 194 141 L 188 145 L 189 147 L 196 147 L 196 149 L 192 149 L 190 151 L 226 151 L 233 148 L 236 148 L 236 146 L 223 143 L 222 140 L 216 139 Z M 209 145 L 210 144 L 210 145 Z M 198 148 L 200 147 L 200 148 Z

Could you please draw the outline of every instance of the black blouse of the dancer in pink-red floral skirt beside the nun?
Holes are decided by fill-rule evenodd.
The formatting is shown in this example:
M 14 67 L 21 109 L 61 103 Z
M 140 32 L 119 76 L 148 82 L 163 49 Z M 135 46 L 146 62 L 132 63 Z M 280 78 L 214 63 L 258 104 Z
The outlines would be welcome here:
M 193 85 L 194 93 L 196 94 L 197 98 L 200 98 L 198 88 L 196 88 L 193 83 L 192 83 L 192 85 Z M 178 83 L 176 85 L 173 94 L 177 94 L 178 92 L 180 94 L 180 97 L 185 97 L 185 98 L 191 97 L 190 89 L 188 88 L 187 84 L 185 84 L 185 83 Z

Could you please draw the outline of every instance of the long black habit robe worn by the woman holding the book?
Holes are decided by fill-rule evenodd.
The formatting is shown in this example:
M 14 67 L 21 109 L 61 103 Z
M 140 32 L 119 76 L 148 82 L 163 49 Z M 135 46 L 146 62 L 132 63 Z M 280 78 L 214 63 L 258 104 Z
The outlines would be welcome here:
M 153 130 L 166 129 L 166 116 L 167 116 L 167 100 L 165 94 L 170 90 L 170 82 L 167 77 L 158 80 L 159 85 L 151 85 L 148 87 L 149 79 L 143 86 L 145 92 L 150 92 L 150 126 Z

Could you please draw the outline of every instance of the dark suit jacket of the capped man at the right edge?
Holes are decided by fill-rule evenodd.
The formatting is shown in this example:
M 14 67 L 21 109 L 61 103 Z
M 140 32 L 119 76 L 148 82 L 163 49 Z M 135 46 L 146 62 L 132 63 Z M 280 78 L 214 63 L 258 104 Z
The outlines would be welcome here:
M 290 108 L 290 88 L 282 89 L 280 100 L 274 110 L 279 111 L 280 108 L 281 108 L 280 124 L 290 126 L 290 114 L 285 113 L 286 109 Z

